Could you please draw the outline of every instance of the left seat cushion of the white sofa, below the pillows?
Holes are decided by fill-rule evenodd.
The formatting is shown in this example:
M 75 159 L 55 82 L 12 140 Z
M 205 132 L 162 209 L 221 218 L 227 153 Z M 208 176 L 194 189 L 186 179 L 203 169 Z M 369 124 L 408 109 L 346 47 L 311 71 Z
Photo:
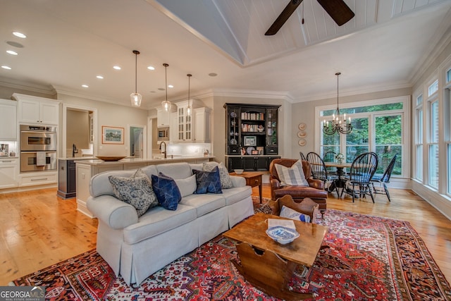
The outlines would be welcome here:
M 178 204 L 175 210 L 154 207 L 141 216 L 138 223 L 124 228 L 124 242 L 131 245 L 175 229 L 194 219 L 196 209 L 190 206 Z

